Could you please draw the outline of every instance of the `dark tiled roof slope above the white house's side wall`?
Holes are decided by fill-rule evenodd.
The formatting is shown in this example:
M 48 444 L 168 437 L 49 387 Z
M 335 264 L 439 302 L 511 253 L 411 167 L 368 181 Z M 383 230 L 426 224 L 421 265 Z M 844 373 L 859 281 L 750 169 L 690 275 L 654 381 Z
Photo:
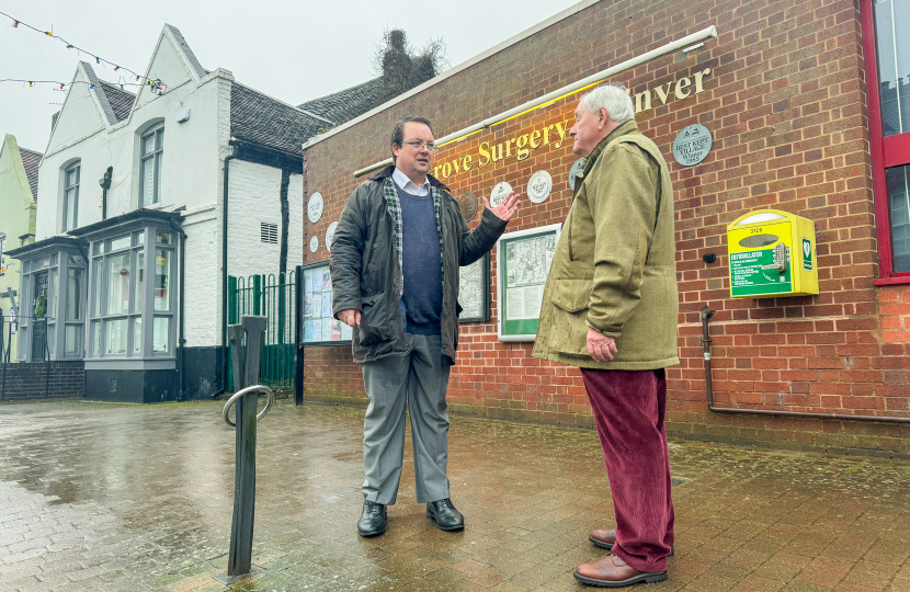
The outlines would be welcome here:
M 230 88 L 230 135 L 303 156 L 302 146 L 330 124 L 277 99 L 234 82 Z

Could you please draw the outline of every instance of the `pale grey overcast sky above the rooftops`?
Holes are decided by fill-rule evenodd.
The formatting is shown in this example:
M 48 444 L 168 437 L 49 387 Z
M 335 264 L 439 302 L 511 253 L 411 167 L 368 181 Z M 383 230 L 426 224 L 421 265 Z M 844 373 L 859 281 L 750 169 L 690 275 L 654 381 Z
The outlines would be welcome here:
M 412 45 L 445 42 L 456 66 L 578 0 L 457 0 L 288 2 L 258 0 L 156 0 L 0 2 L 0 11 L 136 71 L 145 71 L 163 23 L 183 33 L 207 69 L 293 104 L 372 78 L 371 62 L 387 27 L 403 29 Z M 92 56 L 0 18 L 0 78 L 69 82 L 80 60 L 102 80 L 117 81 L 113 67 Z M 127 89 L 129 89 L 127 87 Z M 50 86 L 0 83 L 0 134 L 44 151 L 50 116 L 65 94 Z

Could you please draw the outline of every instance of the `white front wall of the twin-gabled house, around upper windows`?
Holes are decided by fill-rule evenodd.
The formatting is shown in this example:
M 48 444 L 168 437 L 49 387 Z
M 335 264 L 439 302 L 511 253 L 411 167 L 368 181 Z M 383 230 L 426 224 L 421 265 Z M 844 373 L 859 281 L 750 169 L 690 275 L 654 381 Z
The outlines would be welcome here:
M 166 43 L 161 50 L 169 50 Z M 161 203 L 151 207 L 186 208 L 186 345 L 220 345 L 221 180 L 223 159 L 229 152 L 232 78 L 224 70 L 213 72 L 200 86 L 185 76 L 171 78 L 186 81 L 156 95 L 112 128 L 100 116 L 89 94 L 93 91 L 87 84 L 72 87 L 38 172 L 36 240 L 61 230 L 61 170 L 76 158 L 82 167 L 78 226 L 101 220 L 98 180 L 107 167 L 114 169 L 107 217 L 135 210 L 139 206 L 139 136 L 149 124 L 163 121 Z M 190 119 L 179 124 L 175 114 L 182 107 L 190 107 Z

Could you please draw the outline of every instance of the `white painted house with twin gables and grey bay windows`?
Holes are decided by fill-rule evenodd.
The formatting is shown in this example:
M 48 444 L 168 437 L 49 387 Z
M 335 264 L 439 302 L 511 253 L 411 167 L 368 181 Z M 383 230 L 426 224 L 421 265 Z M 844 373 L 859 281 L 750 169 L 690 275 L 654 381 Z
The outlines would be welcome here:
M 208 398 L 227 275 L 303 262 L 302 145 L 328 124 L 203 68 L 170 25 L 146 76 L 163 92 L 80 62 L 55 116 L 35 242 L 8 253 L 21 308 L 44 317 L 23 317 L 19 358 L 84 361 L 88 398 Z

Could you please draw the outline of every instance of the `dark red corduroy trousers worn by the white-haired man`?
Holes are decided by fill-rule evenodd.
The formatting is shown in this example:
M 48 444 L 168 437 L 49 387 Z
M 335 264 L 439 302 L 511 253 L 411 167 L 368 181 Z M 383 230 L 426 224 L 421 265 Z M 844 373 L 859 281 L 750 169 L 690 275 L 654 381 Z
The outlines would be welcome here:
M 594 408 L 613 509 L 613 553 L 639 571 L 667 570 L 673 546 L 673 498 L 663 414 L 664 371 L 581 368 Z

